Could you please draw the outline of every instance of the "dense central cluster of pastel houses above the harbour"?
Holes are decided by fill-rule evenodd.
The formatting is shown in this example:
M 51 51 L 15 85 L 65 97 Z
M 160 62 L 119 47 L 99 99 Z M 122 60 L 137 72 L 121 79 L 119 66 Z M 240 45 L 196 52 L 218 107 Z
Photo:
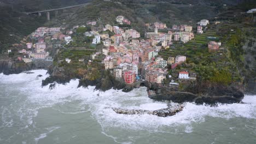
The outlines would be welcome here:
M 156 23 L 159 25 L 159 23 Z M 192 27 L 183 25 L 182 32 L 192 31 Z M 97 31 L 86 32 L 86 36 L 98 35 L 103 39 L 104 48 L 102 54 L 104 67 L 110 70 L 116 79 L 124 79 L 126 83 L 134 83 L 136 80 L 144 79 L 152 83 L 162 83 L 168 74 L 167 65 L 172 68 L 186 61 L 185 56 L 169 57 L 166 61 L 158 57 L 158 52 L 162 46 L 168 46 L 172 40 L 172 31 L 168 33 L 158 33 L 158 26 L 155 32 L 146 33 L 147 40 L 137 39 L 140 34 L 135 29 L 122 29 L 118 26 L 106 25 L 103 31 L 115 33 L 109 38 L 108 34 L 99 34 Z M 183 33 L 182 33 L 183 34 Z M 95 40 L 93 40 L 95 41 Z M 93 42 L 94 43 L 94 42 Z M 162 46 L 156 44 L 162 43 Z M 99 53 L 94 53 L 92 59 Z

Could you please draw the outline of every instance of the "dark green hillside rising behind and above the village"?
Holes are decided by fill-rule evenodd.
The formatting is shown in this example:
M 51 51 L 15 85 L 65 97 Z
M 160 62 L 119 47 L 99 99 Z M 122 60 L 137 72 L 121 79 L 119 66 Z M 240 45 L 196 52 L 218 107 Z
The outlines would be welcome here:
M 171 27 L 173 24 L 187 23 L 194 25 L 200 19 L 211 19 L 224 11 L 223 4 L 236 4 L 237 0 L 209 1 L 209 0 L 93 0 L 90 5 L 83 8 L 68 9 L 65 13 L 59 13 L 57 17 L 51 14 L 51 21 L 47 22 L 43 14 L 25 15 L 24 11 L 44 10 L 60 8 L 67 5 L 75 5 L 92 0 L 57 0 L 57 1 L 2 1 L 0 3 L 0 50 L 10 44 L 17 43 L 24 36 L 30 34 L 39 26 L 65 26 L 84 25 L 89 20 L 97 20 L 100 25 L 114 24 L 118 15 L 124 15 L 132 22 L 132 27 L 143 28 L 145 23 L 162 21 Z M 251 5 L 251 1 L 247 1 Z M 142 34 L 143 29 L 137 29 Z M 1 49 L 2 47 L 2 49 Z

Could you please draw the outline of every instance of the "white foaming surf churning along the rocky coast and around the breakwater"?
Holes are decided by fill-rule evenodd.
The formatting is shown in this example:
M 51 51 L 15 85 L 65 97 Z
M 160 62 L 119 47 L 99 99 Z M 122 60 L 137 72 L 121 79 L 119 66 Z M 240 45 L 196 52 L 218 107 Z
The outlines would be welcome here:
M 101 127 L 101 133 L 111 137 L 115 142 L 120 141 L 117 135 L 112 133 L 111 129 L 123 129 L 132 131 L 158 131 L 158 133 L 193 133 L 194 125 L 205 123 L 206 118 L 222 118 L 226 121 L 232 118 L 246 118 L 256 121 L 256 96 L 246 95 L 243 102 L 246 104 L 225 104 L 217 107 L 206 105 L 195 105 L 187 103 L 182 112 L 172 117 L 157 117 L 153 115 L 119 115 L 115 113 L 112 107 L 121 107 L 125 109 L 143 109 L 157 110 L 166 107 L 166 103 L 157 102 L 148 98 L 146 88 L 134 89 L 130 93 L 124 93 L 110 89 L 107 92 L 95 91 L 95 87 L 77 88 L 78 80 L 72 80 L 66 85 L 56 85 L 56 88 L 49 90 L 49 86 L 41 87 L 41 82 L 49 75 L 45 70 L 33 70 L 34 74 L 0 74 L 0 85 L 4 87 L 4 93 L 0 95 L 9 95 L 14 97 L 8 104 L 1 102 L 1 129 L 15 127 L 15 123 L 19 122 L 18 133 L 36 128 L 36 119 L 38 111 L 51 108 L 62 115 L 85 115 L 90 113 L 91 117 L 96 120 Z M 37 75 L 43 77 L 37 77 Z M 14 92 L 15 90 L 15 92 Z M 18 93 L 14 95 L 13 93 Z M 24 98 L 21 100 L 20 97 Z M 24 96 L 25 95 L 25 96 Z M 1 98 L 0 97 L 0 98 Z M 4 98 L 4 97 L 3 97 Z M 17 105 L 16 105 L 17 103 Z M 76 103 L 69 106 L 69 104 Z M 56 107 L 60 106 L 60 107 Z M 68 105 L 68 109 L 61 109 L 61 106 Z M 17 110 L 17 111 L 15 111 Z M 15 116 L 18 119 L 15 119 Z M 43 133 L 35 136 L 34 142 L 38 143 L 48 134 L 57 129 L 61 129 L 62 125 L 44 128 Z M 181 128 L 182 127 L 182 128 Z M 254 126 L 245 125 L 247 129 L 255 130 Z M 180 129 L 179 129 L 180 128 Z M 172 129 L 172 130 L 170 130 Z M 232 128 L 230 128 L 232 130 Z M 233 128 L 234 129 L 234 128 Z M 0 131 L 0 134 L 2 131 Z M 256 133 L 253 131 L 252 133 Z M 73 135 L 74 136 L 74 135 Z M 74 136 L 75 138 L 77 136 Z M 2 140 L 10 141 L 11 135 L 2 137 L 0 135 L 0 143 Z M 121 140 L 122 143 L 133 143 L 133 139 L 139 139 L 136 136 L 127 138 L 129 140 Z

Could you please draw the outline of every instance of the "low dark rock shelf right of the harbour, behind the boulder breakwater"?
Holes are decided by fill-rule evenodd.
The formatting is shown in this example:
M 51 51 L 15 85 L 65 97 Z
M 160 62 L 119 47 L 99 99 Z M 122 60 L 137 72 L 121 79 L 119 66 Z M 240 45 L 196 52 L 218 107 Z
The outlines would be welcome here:
M 155 94 L 149 95 L 154 100 L 171 100 L 174 103 L 195 102 L 196 104 L 232 104 L 240 103 L 244 94 L 235 87 L 209 86 L 201 93 L 172 91 L 172 88 L 151 86 Z

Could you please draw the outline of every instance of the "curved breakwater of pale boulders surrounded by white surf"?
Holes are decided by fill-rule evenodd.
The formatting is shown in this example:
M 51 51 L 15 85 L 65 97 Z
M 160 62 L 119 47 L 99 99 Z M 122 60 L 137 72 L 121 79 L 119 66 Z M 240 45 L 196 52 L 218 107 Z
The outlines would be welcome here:
M 154 111 L 149 111 L 149 110 L 128 110 L 128 109 L 119 109 L 119 108 L 113 108 L 113 111 L 115 111 L 118 114 L 123 114 L 123 115 L 144 115 L 144 114 L 149 114 L 149 115 L 155 115 L 159 117 L 168 117 L 168 116 L 173 116 L 176 115 L 176 113 L 180 112 L 183 110 L 184 105 L 183 104 L 167 104 L 166 109 L 159 109 L 159 110 L 154 110 Z

